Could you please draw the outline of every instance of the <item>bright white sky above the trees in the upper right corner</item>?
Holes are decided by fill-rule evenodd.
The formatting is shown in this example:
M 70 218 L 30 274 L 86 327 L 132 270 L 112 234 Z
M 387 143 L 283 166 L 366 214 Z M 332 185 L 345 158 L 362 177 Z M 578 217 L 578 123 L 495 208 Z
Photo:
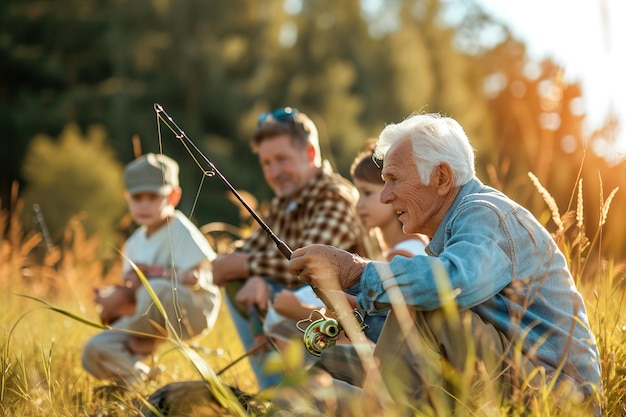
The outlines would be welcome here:
M 536 59 L 551 58 L 569 81 L 580 81 L 588 129 L 598 128 L 609 110 L 620 119 L 618 149 L 626 153 L 626 1 L 478 0 L 501 18 Z

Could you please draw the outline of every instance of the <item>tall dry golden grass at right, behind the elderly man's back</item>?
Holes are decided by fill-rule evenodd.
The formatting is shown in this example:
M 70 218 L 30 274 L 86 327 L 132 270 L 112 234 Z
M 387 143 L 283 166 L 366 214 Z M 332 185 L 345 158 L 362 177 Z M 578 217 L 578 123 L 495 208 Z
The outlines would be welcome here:
M 597 232 L 594 236 L 587 236 L 585 223 L 588 219 L 584 214 L 584 184 L 580 172 L 572 198 L 563 211 L 539 179 L 532 173 L 529 173 L 529 177 L 546 203 L 550 218 L 556 226 L 552 233 L 553 238 L 565 254 L 576 286 L 585 298 L 591 329 L 600 351 L 605 396 L 604 415 L 626 415 L 626 311 L 623 308 L 626 295 L 626 261 L 606 259 L 600 244 L 605 233 L 624 233 L 607 231 L 604 228 L 611 202 L 619 187 L 612 189 L 605 198 L 602 178 L 598 178 L 600 217 L 597 220 Z M 588 273 L 589 269 L 592 270 L 591 274 Z M 583 277 L 591 279 L 585 280 Z

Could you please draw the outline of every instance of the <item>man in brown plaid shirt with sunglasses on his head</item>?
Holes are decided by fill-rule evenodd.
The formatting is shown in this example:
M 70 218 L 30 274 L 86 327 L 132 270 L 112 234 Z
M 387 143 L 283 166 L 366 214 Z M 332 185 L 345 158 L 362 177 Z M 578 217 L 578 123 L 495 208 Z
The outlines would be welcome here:
M 252 148 L 276 194 L 265 221 L 280 240 L 290 248 L 323 243 L 362 252 L 363 234 L 355 210 L 358 193 L 322 162 L 317 128 L 309 117 L 290 107 L 261 114 Z M 213 261 L 213 278 L 227 287 L 231 315 L 247 351 L 265 340 L 259 323 L 255 325 L 255 313 L 264 314 L 276 292 L 303 285 L 261 228 L 237 251 Z M 263 373 L 264 361 L 264 352 L 250 357 L 261 389 L 280 382 L 280 375 Z

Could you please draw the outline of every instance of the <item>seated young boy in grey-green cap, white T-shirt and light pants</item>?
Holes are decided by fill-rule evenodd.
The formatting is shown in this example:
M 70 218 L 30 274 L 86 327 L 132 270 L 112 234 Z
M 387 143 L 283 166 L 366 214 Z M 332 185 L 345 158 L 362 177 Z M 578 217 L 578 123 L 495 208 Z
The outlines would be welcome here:
M 141 362 L 168 334 L 182 339 L 210 331 L 221 303 L 213 284 L 216 254 L 202 233 L 175 207 L 181 198 L 178 164 L 162 154 L 143 155 L 126 166 L 126 199 L 140 226 L 124 245 L 123 285 L 96 291 L 100 317 L 112 329 L 87 341 L 83 367 L 100 379 L 123 386 L 145 381 Z M 169 324 L 142 285 L 148 279 Z

